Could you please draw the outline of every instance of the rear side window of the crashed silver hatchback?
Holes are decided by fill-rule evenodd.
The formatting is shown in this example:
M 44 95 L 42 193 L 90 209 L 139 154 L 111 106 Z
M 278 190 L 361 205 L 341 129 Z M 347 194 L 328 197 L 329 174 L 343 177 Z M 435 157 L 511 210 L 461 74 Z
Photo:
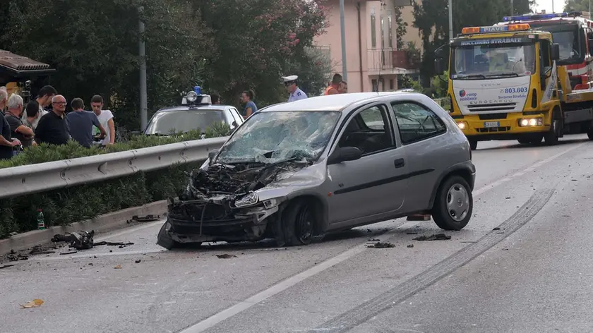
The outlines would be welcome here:
M 415 143 L 445 133 L 445 122 L 429 108 L 412 102 L 392 102 L 402 144 Z

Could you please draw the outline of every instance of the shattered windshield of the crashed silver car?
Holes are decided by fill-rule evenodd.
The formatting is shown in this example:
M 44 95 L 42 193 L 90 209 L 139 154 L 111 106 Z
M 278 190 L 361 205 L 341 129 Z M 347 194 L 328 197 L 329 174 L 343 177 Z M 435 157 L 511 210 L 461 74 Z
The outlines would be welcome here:
M 340 119 L 337 111 L 277 111 L 253 114 L 222 147 L 219 163 L 275 163 L 317 159 Z

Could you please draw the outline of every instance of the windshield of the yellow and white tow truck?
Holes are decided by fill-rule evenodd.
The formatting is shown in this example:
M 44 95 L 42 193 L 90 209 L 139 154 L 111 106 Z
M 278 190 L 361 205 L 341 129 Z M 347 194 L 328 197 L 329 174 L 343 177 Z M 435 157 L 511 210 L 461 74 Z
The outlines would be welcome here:
M 535 73 L 533 42 L 500 43 L 499 40 L 466 41 L 453 47 L 450 77 L 453 80 L 486 80 Z

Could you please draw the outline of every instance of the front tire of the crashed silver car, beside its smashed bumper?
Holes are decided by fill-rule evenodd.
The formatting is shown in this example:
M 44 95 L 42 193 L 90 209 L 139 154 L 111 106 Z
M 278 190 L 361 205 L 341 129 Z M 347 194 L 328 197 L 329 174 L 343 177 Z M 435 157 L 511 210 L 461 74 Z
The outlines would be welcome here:
M 280 233 L 276 238 L 279 246 L 309 245 L 315 233 L 313 206 L 305 200 L 294 200 L 282 211 Z

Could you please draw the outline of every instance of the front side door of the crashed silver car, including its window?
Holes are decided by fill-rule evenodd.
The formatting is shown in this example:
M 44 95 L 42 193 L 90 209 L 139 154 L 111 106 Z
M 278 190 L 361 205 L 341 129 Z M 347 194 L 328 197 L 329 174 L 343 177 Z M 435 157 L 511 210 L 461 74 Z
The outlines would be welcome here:
M 333 192 L 328 198 L 330 228 L 371 222 L 402 207 L 407 190 L 405 152 L 397 147 L 387 104 L 361 107 L 345 120 L 331 151 L 358 147 L 360 159 L 328 165 Z

